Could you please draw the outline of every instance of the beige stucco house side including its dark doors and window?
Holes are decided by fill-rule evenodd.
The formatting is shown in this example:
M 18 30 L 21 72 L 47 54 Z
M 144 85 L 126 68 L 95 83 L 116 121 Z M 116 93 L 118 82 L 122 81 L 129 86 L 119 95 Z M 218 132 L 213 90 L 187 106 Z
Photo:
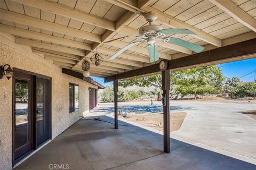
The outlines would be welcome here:
M 0 169 L 7 169 L 89 113 L 104 87 L 0 37 L 9 43 L 0 43 L 0 65 L 13 70 L 0 80 Z

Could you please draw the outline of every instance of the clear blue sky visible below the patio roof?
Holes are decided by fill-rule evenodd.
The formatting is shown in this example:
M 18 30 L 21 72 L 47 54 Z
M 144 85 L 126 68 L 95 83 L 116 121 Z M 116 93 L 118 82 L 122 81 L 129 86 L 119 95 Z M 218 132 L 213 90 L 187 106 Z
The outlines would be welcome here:
M 225 77 L 238 77 L 241 81 L 254 81 L 256 78 L 256 58 L 218 64 L 218 66 L 222 70 L 222 73 Z M 113 84 L 113 82 L 104 83 L 104 79 L 102 78 L 92 78 L 103 86 Z

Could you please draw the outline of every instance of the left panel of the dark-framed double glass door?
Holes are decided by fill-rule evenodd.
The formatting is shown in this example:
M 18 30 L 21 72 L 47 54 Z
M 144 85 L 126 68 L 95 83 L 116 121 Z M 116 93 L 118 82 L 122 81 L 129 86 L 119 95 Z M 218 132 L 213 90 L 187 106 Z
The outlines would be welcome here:
M 15 73 L 14 77 L 14 160 L 33 147 L 33 77 L 29 74 Z

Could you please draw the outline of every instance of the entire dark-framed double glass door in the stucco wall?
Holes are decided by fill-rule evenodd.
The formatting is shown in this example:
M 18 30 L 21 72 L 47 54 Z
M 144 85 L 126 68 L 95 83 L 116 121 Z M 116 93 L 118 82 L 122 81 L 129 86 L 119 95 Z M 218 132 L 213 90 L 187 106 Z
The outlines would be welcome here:
M 51 78 L 14 68 L 13 165 L 51 139 Z

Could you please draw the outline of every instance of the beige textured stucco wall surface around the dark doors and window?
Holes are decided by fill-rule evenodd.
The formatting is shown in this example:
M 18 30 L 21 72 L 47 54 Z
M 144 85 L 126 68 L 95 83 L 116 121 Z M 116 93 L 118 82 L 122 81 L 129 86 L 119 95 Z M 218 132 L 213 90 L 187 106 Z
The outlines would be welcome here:
M 3 39 L 2 39 L 3 40 Z M 21 46 L 0 43 L 0 65 L 10 64 L 22 70 L 52 78 L 52 138 L 89 112 L 89 87 L 93 84 L 61 73 L 61 68 L 44 58 L 26 52 Z M 11 43 L 11 42 L 10 42 Z M 7 44 L 7 45 L 6 45 Z M 14 49 L 15 48 L 15 49 Z M 79 111 L 69 114 L 69 82 L 79 84 Z M 12 78 L 0 80 L 0 169 L 12 169 Z

